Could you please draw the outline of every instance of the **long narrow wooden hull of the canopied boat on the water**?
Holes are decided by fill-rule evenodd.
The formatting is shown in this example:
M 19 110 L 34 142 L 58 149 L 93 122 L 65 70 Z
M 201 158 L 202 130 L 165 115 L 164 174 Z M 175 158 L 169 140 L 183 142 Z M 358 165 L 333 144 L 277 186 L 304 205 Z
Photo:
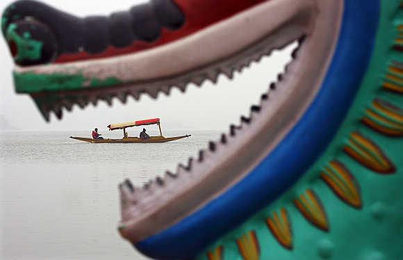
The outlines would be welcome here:
M 191 135 L 186 136 L 174 136 L 174 137 L 167 137 L 164 136 L 151 136 L 151 138 L 147 140 L 141 140 L 138 137 L 128 137 L 122 139 L 93 139 L 93 138 L 86 138 L 86 137 L 75 137 L 70 136 L 72 139 L 80 140 L 83 142 L 88 143 L 166 143 L 171 142 L 174 140 L 179 140 L 182 138 L 190 137 Z

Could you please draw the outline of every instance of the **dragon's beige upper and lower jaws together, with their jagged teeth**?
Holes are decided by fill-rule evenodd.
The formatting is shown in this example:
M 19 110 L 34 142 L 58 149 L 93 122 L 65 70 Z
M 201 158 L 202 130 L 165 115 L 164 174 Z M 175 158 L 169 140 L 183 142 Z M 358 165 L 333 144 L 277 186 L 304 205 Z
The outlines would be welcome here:
M 125 103 L 129 95 L 157 97 L 175 87 L 184 92 L 188 83 L 215 83 L 220 74 L 231 79 L 234 71 L 252 61 L 298 42 L 293 60 L 263 93 L 261 104 L 252 106 L 249 117 L 241 117 L 240 124 L 209 143 L 197 159 L 142 188 L 129 180 L 120 184 L 120 232 L 138 243 L 195 213 L 243 179 L 293 128 L 320 89 L 338 39 L 342 8 L 342 1 L 265 1 L 147 51 L 18 67 L 15 84 L 17 92 L 33 97 L 46 120 L 51 112 L 61 119 L 63 108 L 71 111 L 74 104 L 84 108 L 100 99 L 111 104 L 113 97 Z

